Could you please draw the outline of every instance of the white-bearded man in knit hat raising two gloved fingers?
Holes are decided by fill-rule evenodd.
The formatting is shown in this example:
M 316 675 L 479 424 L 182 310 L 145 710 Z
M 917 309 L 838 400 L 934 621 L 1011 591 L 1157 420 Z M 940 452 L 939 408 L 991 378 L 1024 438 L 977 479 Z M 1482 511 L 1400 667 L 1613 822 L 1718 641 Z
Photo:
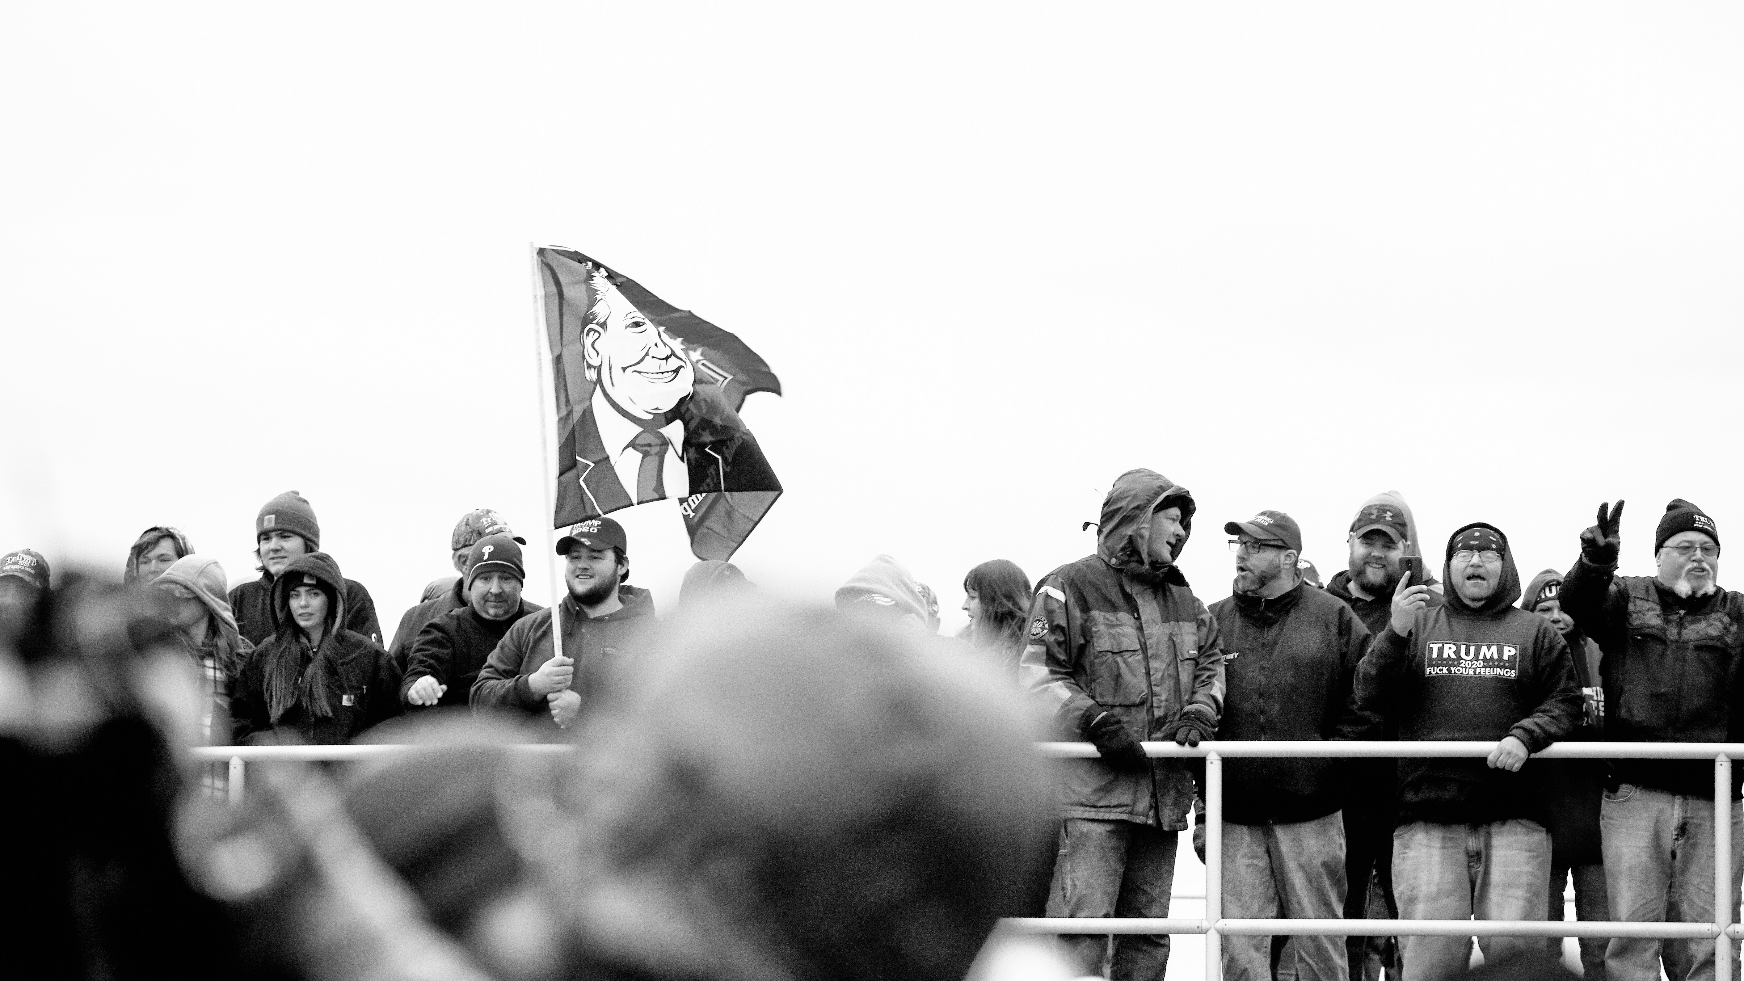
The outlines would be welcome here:
M 1655 577 L 1617 575 L 1624 502 L 1599 505 L 1563 580 L 1563 613 L 1598 641 L 1604 739 L 1613 742 L 1739 742 L 1739 655 L 1744 596 L 1720 589 L 1720 528 L 1678 498 L 1653 533 Z M 1732 883 L 1744 875 L 1744 815 L 1732 765 Z M 1604 889 L 1611 917 L 1709 922 L 1714 917 L 1714 772 L 1711 760 L 1613 760 L 1599 805 Z M 1737 896 L 1732 897 L 1734 904 Z M 1735 911 L 1735 906 L 1734 906 Z M 1714 976 L 1711 941 L 1615 937 L 1611 981 Z M 1737 978 L 1737 944 L 1732 976 Z

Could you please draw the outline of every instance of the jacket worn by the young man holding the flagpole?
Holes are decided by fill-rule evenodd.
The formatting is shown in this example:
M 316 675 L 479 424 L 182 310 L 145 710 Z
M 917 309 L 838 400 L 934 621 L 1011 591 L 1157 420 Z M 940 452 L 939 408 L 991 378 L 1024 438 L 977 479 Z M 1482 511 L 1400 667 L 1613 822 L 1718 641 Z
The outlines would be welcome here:
M 563 596 L 558 610 L 563 613 L 563 657 L 576 660 L 576 674 L 569 683 L 581 695 L 586 714 L 610 681 L 617 662 L 626 657 L 642 636 L 654 626 L 654 598 L 647 589 L 619 585 L 619 610 L 603 617 L 589 617 L 574 596 Z M 480 709 L 508 709 L 541 718 L 556 730 L 542 695 L 534 695 L 527 676 L 551 660 L 551 610 L 528 613 L 509 627 L 502 641 L 473 683 L 471 706 Z M 579 716 L 577 716 L 579 718 Z

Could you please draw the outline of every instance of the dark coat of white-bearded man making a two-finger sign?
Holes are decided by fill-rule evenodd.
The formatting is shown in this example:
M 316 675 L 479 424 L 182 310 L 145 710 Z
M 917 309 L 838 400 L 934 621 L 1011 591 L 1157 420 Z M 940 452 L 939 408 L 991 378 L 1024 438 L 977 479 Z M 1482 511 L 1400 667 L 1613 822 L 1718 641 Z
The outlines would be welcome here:
M 1739 742 L 1744 737 L 1739 659 L 1744 594 L 1679 598 L 1657 578 L 1575 561 L 1557 596 L 1603 657 L 1604 739 L 1610 742 Z M 1714 798 L 1711 760 L 1613 760 L 1624 784 Z M 1732 796 L 1744 767 L 1732 767 Z

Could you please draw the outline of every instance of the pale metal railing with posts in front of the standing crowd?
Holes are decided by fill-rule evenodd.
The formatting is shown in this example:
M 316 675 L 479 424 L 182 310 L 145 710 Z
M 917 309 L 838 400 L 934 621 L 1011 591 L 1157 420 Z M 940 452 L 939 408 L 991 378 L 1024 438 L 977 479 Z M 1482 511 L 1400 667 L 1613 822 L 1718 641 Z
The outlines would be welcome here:
M 1146 742 L 1153 758 L 1205 760 L 1205 917 L 1193 918 L 1085 918 L 1024 917 L 1001 922 L 1024 934 L 1203 934 L 1205 978 L 1223 978 L 1224 936 L 1453 936 L 1453 937 L 1648 937 L 1713 939 L 1714 981 L 1732 979 L 1730 941 L 1744 936 L 1732 922 L 1732 758 L 1744 756 L 1737 742 L 1557 742 L 1535 760 L 1713 760 L 1714 763 L 1714 920 L 1711 923 L 1653 923 L 1615 920 L 1296 920 L 1224 918 L 1223 915 L 1223 761 L 1243 758 L 1486 758 L 1495 742 Z M 201 761 L 230 763 L 230 802 L 239 803 L 249 761 L 371 760 L 413 746 L 204 746 Z M 565 744 L 532 744 L 528 751 L 562 753 Z M 1038 742 L 1043 756 L 1097 758 L 1090 742 Z M 1547 885 L 1549 889 L 1549 885 Z M 1741 979 L 1744 981 L 1744 979 Z

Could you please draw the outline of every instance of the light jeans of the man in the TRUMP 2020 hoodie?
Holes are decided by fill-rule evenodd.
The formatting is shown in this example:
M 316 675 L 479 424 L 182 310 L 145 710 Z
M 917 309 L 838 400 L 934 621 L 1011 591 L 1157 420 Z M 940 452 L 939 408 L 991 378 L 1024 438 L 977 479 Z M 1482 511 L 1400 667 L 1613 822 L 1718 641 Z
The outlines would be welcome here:
M 1430 824 L 1393 831 L 1393 894 L 1400 920 L 1543 920 L 1550 833 L 1536 821 Z M 1472 937 L 1399 937 L 1404 981 L 1463 974 Z M 1479 937 L 1486 962 L 1543 951 L 1543 937 Z

